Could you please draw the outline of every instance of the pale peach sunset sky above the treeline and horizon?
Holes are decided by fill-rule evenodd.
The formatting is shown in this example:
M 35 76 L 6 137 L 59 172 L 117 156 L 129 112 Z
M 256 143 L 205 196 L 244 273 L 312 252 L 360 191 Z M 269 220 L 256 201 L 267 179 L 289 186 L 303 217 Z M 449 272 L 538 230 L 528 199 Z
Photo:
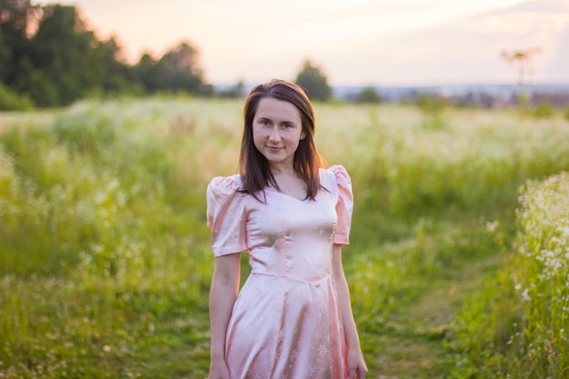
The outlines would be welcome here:
M 294 80 L 306 60 L 331 85 L 516 83 L 501 52 L 538 48 L 526 83 L 569 84 L 569 0 L 62 0 L 135 63 L 182 41 L 215 85 Z

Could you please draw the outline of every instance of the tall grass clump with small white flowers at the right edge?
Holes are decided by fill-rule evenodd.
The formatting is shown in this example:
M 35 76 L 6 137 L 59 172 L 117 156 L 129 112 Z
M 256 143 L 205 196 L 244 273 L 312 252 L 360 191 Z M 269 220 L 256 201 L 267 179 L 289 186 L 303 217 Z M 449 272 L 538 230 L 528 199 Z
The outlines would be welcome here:
M 569 374 L 569 174 L 527 182 L 517 225 L 508 265 L 464 308 L 456 377 Z

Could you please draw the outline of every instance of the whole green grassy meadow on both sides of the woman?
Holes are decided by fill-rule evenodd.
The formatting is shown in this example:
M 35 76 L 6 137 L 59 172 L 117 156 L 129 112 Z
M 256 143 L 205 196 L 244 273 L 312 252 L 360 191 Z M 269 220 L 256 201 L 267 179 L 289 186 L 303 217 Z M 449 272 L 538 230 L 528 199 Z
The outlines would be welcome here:
M 315 111 L 352 176 L 369 377 L 564 378 L 569 122 Z M 206 376 L 205 187 L 235 173 L 241 121 L 240 101 L 160 96 L 0 113 L 1 378 Z

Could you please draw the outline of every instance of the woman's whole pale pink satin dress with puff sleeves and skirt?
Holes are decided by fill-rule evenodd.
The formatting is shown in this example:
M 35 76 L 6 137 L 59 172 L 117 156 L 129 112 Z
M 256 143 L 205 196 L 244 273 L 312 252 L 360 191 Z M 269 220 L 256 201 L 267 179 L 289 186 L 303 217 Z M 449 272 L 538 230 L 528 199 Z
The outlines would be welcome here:
M 261 203 L 238 192 L 239 175 L 207 188 L 215 256 L 247 250 L 252 268 L 225 340 L 232 379 L 348 377 L 332 246 L 349 242 L 352 188 L 342 166 L 320 178 L 314 201 L 267 188 Z

